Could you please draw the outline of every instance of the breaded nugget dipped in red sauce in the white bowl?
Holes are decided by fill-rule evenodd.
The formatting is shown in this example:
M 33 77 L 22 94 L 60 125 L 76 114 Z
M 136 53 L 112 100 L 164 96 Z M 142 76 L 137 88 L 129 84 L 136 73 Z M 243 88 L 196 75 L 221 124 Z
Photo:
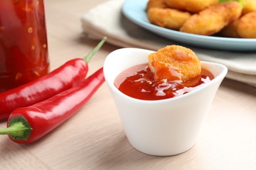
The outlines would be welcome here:
M 201 73 L 200 59 L 189 48 L 171 45 L 148 56 L 154 78 L 186 82 Z

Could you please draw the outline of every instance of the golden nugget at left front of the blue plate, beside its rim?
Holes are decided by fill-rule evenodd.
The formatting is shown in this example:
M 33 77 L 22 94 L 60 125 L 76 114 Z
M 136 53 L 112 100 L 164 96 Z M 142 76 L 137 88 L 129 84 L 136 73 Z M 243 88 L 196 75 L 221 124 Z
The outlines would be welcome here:
M 182 24 L 190 18 L 189 12 L 176 9 L 151 8 L 148 10 L 148 20 L 160 27 L 179 30 Z

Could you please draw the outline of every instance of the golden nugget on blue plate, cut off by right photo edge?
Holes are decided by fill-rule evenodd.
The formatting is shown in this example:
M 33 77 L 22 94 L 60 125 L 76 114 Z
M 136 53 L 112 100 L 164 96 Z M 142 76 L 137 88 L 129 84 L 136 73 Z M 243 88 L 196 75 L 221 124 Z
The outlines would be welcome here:
M 256 39 L 256 12 L 249 12 L 240 18 L 237 32 L 241 38 Z

